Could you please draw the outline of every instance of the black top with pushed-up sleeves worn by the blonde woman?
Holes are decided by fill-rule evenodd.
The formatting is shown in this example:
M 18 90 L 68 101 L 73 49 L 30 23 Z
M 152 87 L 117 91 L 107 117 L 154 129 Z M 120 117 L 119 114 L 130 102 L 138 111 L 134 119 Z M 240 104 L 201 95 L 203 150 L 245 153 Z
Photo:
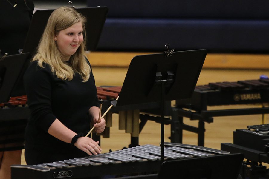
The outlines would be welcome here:
M 88 133 L 88 110 L 92 106 L 99 107 L 94 76 L 91 72 L 90 79 L 82 82 L 81 76 L 75 73 L 71 81 L 61 80 L 51 72 L 48 64 L 44 64 L 44 67 L 39 67 L 37 61 L 33 61 L 24 75 L 31 112 L 25 131 L 25 149 L 68 151 L 75 156 L 76 152 L 81 153 L 80 149 L 60 141 L 47 131 L 57 118 L 76 133 Z

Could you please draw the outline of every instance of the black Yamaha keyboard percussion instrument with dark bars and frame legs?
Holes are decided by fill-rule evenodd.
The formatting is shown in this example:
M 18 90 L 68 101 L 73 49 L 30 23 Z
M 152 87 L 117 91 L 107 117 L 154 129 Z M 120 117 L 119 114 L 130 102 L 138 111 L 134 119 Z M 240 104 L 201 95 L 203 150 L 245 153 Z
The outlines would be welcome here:
M 259 104 L 255 108 L 207 110 L 208 106 Z M 204 146 L 205 122 L 216 116 L 268 114 L 269 79 L 217 82 L 196 86 L 192 98 L 176 100 L 172 108 L 171 140 L 182 142 L 182 130 L 198 134 L 198 145 Z M 198 127 L 183 123 L 183 117 L 198 120 Z

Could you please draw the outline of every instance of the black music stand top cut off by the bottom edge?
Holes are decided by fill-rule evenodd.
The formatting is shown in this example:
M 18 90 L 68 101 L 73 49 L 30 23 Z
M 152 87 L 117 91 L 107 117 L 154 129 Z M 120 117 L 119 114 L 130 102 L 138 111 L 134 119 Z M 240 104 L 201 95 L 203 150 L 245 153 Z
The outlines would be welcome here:
M 165 161 L 161 165 L 158 179 L 237 179 L 243 160 L 244 155 L 238 153 Z

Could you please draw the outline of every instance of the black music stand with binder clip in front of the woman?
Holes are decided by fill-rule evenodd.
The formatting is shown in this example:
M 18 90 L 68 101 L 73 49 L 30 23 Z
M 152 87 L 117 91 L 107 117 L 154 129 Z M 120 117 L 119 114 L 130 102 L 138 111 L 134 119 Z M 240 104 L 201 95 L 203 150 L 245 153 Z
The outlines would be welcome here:
M 140 109 L 151 102 L 161 107 L 161 163 L 164 155 L 164 101 L 191 98 L 206 50 L 189 50 L 135 56 L 128 68 L 119 99 L 124 109 Z

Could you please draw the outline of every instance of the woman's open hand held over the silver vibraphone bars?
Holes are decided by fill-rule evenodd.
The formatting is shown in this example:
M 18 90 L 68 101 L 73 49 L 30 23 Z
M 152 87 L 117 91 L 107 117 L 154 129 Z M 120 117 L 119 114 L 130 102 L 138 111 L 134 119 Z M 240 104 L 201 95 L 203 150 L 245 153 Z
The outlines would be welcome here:
M 74 146 L 86 152 L 88 155 L 97 155 L 102 151 L 98 144 L 99 141 L 95 142 L 89 137 L 80 137 L 77 139 L 77 142 L 74 143 Z

